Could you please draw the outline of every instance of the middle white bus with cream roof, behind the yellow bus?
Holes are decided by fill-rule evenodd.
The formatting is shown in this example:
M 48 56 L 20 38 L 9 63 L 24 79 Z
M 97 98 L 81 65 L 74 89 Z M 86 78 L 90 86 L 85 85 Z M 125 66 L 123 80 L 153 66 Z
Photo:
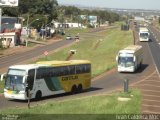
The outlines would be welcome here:
M 140 45 L 130 45 L 120 50 L 116 56 L 118 72 L 135 72 L 143 62 L 143 49 Z

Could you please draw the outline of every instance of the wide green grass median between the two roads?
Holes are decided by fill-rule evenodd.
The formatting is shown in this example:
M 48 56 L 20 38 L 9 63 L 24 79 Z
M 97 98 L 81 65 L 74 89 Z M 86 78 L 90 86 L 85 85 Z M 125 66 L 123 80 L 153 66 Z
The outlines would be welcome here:
M 120 31 L 120 28 L 92 33 L 88 36 L 81 34 L 79 43 L 48 56 L 48 60 L 65 60 L 71 49 L 77 53 L 72 59 L 86 59 L 92 63 L 92 77 L 99 75 L 116 66 L 115 57 L 118 51 L 132 44 L 132 31 Z M 102 40 L 97 48 L 96 44 Z M 45 60 L 40 58 L 37 61 Z

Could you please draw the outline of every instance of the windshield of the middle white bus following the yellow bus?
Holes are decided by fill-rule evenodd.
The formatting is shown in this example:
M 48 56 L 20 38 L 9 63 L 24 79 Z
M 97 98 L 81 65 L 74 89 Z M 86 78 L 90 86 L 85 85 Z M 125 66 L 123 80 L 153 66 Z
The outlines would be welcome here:
M 134 66 L 133 57 L 119 57 L 118 64 L 123 67 Z

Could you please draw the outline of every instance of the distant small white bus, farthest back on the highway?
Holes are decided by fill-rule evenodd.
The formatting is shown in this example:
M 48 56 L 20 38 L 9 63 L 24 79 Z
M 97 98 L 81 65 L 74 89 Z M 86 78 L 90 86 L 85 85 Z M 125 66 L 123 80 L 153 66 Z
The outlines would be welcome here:
M 146 27 L 139 28 L 139 41 L 149 41 L 149 30 Z

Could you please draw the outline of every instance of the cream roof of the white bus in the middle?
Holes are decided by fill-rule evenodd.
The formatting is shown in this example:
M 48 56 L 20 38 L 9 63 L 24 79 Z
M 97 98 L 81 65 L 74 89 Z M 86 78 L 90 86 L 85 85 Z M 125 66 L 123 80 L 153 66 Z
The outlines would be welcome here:
M 140 45 L 130 45 L 126 48 L 124 48 L 123 50 L 120 50 L 120 53 L 135 53 L 136 51 L 139 51 L 140 49 L 142 49 L 142 46 Z

